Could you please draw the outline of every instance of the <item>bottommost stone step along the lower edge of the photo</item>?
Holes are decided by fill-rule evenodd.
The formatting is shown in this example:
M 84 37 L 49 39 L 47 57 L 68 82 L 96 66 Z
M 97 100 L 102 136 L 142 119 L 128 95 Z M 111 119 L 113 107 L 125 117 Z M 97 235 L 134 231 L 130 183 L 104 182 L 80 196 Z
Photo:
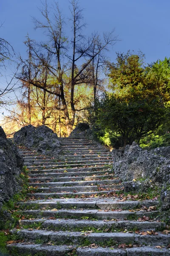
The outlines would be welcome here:
M 46 244 L 11 244 L 8 245 L 8 250 L 14 251 L 23 255 L 24 253 L 31 253 L 32 255 L 43 255 L 43 256 L 66 256 L 76 252 L 77 256 L 169 256 L 170 250 L 162 247 L 161 249 L 155 246 L 142 246 L 134 248 L 118 249 L 114 247 L 78 247 L 75 249 L 74 246 L 67 245 L 46 245 Z M 94 245 L 95 247 L 95 245 Z M 69 253 L 69 254 L 68 254 Z M 14 254 L 13 254 L 14 255 Z M 72 254 L 74 255 L 74 254 Z

